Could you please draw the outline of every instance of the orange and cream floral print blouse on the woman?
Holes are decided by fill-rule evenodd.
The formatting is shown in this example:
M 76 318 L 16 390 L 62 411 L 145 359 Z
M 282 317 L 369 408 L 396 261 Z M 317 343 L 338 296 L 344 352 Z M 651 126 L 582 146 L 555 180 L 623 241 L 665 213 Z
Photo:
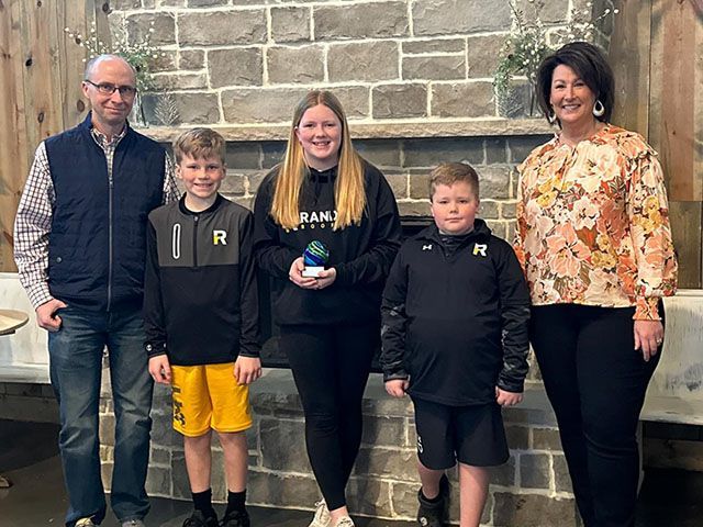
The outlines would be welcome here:
M 576 147 L 556 136 L 517 170 L 515 251 L 533 305 L 635 306 L 635 319 L 659 319 L 678 265 L 661 166 L 644 138 L 610 124 Z

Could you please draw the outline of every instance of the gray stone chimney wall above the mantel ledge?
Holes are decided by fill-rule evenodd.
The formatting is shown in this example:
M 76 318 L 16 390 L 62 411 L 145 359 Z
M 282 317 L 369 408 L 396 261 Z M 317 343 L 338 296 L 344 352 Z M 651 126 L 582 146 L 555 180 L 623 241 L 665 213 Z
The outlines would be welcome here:
M 542 19 L 562 31 L 571 8 Z M 534 4 L 518 3 L 529 18 Z M 165 49 L 156 93 L 187 124 L 287 122 L 297 100 L 325 87 L 352 120 L 495 117 L 492 75 L 511 27 L 506 0 L 113 0 L 110 22 Z M 157 96 L 158 97 L 158 96 Z M 153 117 L 156 98 L 145 98 Z M 520 112 L 518 112 L 520 113 Z

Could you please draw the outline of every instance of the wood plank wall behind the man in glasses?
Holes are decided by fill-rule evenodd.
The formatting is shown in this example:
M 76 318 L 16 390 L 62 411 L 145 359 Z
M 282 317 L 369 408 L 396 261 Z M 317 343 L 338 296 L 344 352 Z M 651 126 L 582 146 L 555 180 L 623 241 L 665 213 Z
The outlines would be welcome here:
M 14 214 L 38 143 L 87 112 L 85 48 L 64 27 L 107 27 L 107 1 L 0 0 L 0 271 L 12 259 Z

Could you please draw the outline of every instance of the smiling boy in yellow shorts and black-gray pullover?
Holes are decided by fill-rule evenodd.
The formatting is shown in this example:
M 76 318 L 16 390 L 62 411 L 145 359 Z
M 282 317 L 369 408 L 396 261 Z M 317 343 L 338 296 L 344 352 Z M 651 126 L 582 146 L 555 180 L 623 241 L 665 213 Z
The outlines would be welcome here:
M 177 202 L 149 214 L 144 318 L 149 373 L 174 393 L 194 512 L 183 527 L 217 527 L 210 487 L 211 429 L 224 450 L 223 527 L 248 527 L 244 503 L 252 426 L 248 384 L 261 374 L 249 211 L 217 193 L 225 143 L 194 128 L 174 143 Z

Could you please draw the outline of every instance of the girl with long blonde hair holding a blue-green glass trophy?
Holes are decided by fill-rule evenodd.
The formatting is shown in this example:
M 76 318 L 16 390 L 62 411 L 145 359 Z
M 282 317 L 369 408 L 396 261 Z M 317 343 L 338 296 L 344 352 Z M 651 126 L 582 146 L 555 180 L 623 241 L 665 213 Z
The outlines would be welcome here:
M 283 162 L 261 182 L 254 214 L 256 258 L 276 279 L 274 317 L 324 497 L 310 527 L 352 527 L 345 487 L 401 228 L 386 178 L 354 149 L 331 92 L 311 91 L 295 106 Z

